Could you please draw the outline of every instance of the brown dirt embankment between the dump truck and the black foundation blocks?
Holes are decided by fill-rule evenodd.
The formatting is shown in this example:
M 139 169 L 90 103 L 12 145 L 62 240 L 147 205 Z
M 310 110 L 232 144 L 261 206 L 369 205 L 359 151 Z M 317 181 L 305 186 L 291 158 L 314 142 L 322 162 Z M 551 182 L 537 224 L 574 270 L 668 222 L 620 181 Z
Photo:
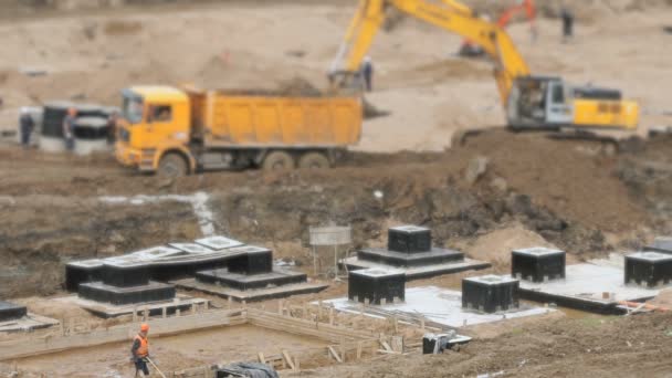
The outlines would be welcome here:
M 424 224 L 437 245 L 495 261 L 516 240 L 554 244 L 577 261 L 634 249 L 670 232 L 669 172 L 641 167 L 668 164 L 665 140 L 640 141 L 643 157 L 608 156 L 591 151 L 589 141 L 493 129 L 441 154 L 354 153 L 323 172 L 220 172 L 174 181 L 133 175 L 109 157 L 71 159 L 4 146 L 0 210 L 11 216 L 0 230 L 7 262 L 0 293 L 54 294 L 67 261 L 202 235 L 188 203 L 103 201 L 114 196 L 207 192 L 217 233 L 270 246 L 276 258 L 300 264 L 311 261 L 308 228 L 329 223 L 353 227 L 353 248 L 382 244 L 389 225 Z M 471 182 L 465 177 L 475 158 L 487 164 Z

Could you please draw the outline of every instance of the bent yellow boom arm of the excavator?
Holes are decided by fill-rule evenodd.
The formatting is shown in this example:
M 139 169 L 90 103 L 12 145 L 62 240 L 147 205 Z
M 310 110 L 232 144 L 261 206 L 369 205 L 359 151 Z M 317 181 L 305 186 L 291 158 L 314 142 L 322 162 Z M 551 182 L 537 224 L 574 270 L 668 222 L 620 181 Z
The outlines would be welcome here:
M 495 63 L 494 76 L 502 103 L 506 106 L 513 81 L 529 75 L 529 69 L 513 41 L 497 24 L 475 17 L 456 0 L 361 0 L 330 67 L 330 76 L 356 75 L 388 9 L 412 15 L 438 28 L 456 33 L 480 45 Z

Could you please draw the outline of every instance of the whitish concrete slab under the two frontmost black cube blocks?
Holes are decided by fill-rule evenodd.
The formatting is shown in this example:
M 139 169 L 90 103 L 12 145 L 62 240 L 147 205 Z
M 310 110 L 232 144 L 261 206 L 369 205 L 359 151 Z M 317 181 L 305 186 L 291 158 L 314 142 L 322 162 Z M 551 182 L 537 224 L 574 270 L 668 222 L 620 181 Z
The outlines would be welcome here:
M 377 309 L 410 316 L 423 315 L 434 323 L 455 328 L 507 318 L 543 315 L 554 311 L 521 304 L 519 308 L 512 311 L 480 314 L 462 308 L 462 293 L 435 286 L 407 288 L 406 302 L 400 304 L 388 303 L 385 305 L 369 305 L 363 308 L 360 303 L 348 301 L 348 298 L 323 301 L 323 303 L 330 303 L 336 309 L 353 314 L 359 314 L 364 311 L 366 316 L 376 318 L 382 318 L 377 314 Z

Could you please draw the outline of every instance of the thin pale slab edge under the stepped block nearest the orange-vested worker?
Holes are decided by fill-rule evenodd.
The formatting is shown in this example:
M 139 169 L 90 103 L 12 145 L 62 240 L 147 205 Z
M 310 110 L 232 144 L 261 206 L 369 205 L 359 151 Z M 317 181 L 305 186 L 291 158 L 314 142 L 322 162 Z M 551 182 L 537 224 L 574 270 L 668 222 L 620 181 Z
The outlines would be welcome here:
M 206 303 L 210 303 L 210 301 L 208 300 L 191 297 L 181 294 L 176 295 L 172 301 L 160 301 L 136 305 L 113 305 L 109 303 L 99 303 L 81 298 L 77 295 L 53 298 L 51 301 L 57 301 L 80 306 L 88 311 L 90 313 L 103 318 L 132 315 L 134 312 L 138 315 L 141 315 L 144 311 L 148 311 L 150 315 L 161 315 L 164 313 L 164 308 L 166 308 L 166 314 L 169 315 L 175 314 L 178 309 L 185 312 L 189 311 L 195 305 L 202 306 Z

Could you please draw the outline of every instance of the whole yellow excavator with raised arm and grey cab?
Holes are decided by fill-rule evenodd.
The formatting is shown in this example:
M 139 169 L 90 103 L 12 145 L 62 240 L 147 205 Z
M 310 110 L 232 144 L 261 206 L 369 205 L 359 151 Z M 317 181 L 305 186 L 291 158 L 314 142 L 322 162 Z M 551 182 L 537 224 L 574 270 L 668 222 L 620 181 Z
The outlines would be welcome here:
M 361 87 L 359 71 L 376 33 L 391 12 L 412 15 L 460 34 L 494 63 L 508 126 L 514 129 L 636 129 L 639 105 L 620 91 L 571 86 L 561 77 L 532 75 L 511 36 L 456 0 L 361 0 L 329 69 L 333 86 Z

